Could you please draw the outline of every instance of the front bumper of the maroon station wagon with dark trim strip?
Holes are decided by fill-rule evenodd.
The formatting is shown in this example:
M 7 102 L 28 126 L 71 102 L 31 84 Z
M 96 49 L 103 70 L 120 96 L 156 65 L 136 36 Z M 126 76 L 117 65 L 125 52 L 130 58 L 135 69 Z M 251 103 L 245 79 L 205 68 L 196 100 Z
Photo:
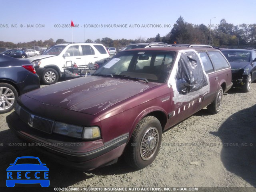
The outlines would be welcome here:
M 79 170 L 92 170 L 116 160 L 122 155 L 129 138 L 129 134 L 124 134 L 103 143 L 102 139 L 85 142 L 57 134 L 47 134 L 25 124 L 16 112 L 8 115 L 6 122 L 17 136 L 34 146 L 39 146 L 37 149 L 51 159 Z

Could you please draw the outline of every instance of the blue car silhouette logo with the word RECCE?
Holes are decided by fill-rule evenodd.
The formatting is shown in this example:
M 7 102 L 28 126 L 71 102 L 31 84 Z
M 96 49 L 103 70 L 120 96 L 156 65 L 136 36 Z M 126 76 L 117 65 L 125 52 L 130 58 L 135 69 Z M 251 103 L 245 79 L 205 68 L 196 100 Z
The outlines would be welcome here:
M 28 163 L 31 162 L 31 163 Z M 49 169 L 38 157 L 24 156 L 18 157 L 13 164 L 6 169 L 7 187 L 14 187 L 20 184 L 39 184 L 42 187 L 50 186 L 48 179 Z

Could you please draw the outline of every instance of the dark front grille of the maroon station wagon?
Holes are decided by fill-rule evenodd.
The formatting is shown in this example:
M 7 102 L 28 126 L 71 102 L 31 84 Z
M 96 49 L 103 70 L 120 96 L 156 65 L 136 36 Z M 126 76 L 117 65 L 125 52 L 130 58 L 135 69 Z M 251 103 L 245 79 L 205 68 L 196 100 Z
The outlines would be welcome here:
M 24 110 L 23 108 L 20 109 L 20 119 L 35 129 L 38 129 L 46 133 L 52 133 L 52 127 L 54 124 L 54 121 L 52 120 L 34 116 L 26 110 Z

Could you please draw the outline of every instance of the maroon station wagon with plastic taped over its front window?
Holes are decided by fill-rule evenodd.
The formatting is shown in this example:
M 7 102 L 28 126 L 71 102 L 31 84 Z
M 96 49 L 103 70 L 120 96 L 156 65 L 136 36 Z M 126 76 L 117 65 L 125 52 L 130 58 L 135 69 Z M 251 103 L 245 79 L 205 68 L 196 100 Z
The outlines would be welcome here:
M 20 138 L 61 164 L 91 170 L 124 155 L 137 169 L 158 154 L 162 132 L 232 86 L 228 61 L 207 46 L 119 52 L 94 74 L 23 94 L 6 117 Z

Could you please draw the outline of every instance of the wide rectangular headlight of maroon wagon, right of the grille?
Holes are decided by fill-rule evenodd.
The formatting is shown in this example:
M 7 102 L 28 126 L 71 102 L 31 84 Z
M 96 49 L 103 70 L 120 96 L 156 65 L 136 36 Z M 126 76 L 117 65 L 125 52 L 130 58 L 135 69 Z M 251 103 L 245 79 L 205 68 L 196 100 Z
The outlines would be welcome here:
M 100 138 L 100 128 L 97 126 L 83 127 L 83 126 L 56 122 L 53 132 L 61 135 L 74 137 L 74 138 L 80 138 L 80 139 Z

